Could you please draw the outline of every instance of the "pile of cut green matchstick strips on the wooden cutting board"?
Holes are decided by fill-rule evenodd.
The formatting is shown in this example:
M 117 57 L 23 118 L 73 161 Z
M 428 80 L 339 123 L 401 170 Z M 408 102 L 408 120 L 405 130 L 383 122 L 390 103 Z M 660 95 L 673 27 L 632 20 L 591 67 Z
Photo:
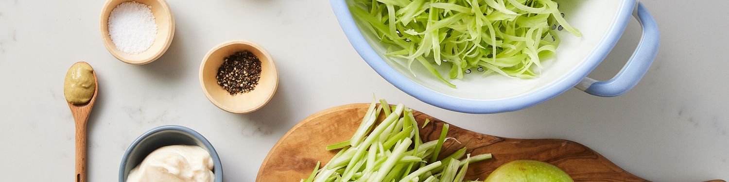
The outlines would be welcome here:
M 386 118 L 375 123 L 380 114 Z M 317 162 L 311 175 L 301 181 L 460 182 L 468 164 L 491 159 L 491 154 L 466 154 L 464 147 L 437 160 L 443 143 L 452 139 L 445 137 L 448 124 L 443 124 L 438 140 L 428 142 L 421 141 L 419 128 L 412 109 L 402 104 L 391 108 L 386 100 L 373 99 L 352 138 L 327 146 L 340 151 L 323 167 Z

